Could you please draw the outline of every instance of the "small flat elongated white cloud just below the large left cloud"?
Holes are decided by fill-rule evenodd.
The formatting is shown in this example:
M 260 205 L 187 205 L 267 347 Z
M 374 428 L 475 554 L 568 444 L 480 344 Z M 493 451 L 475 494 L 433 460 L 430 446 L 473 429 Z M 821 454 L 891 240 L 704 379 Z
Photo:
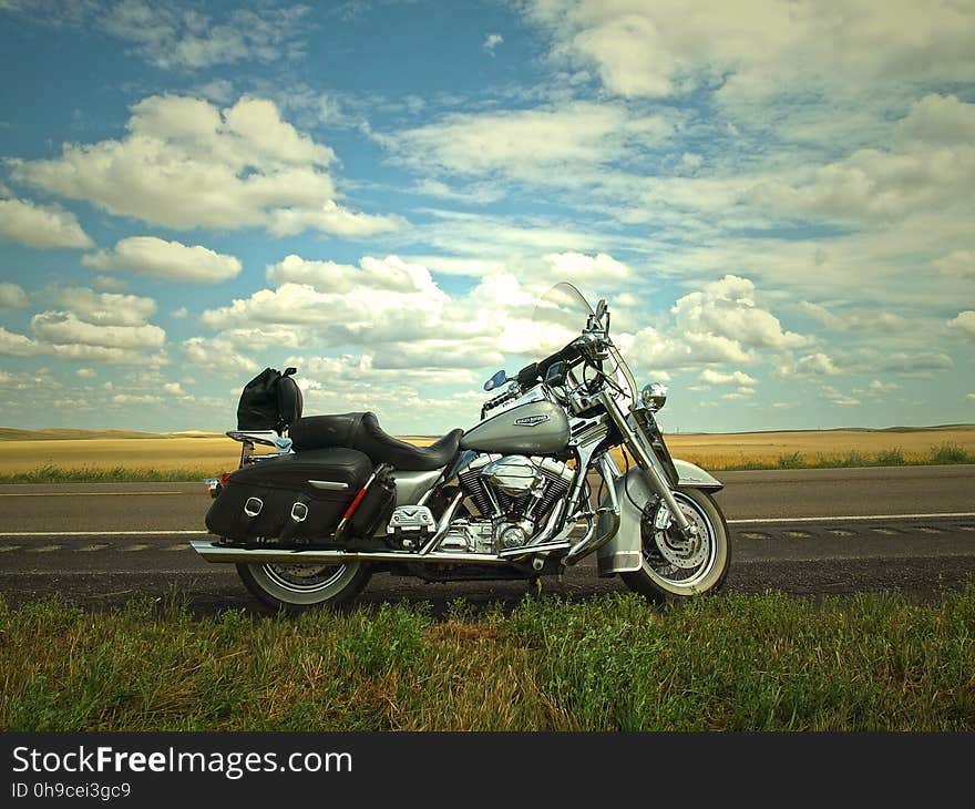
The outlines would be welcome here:
M 130 236 L 112 250 L 83 256 L 82 264 L 98 269 L 121 269 L 172 281 L 217 283 L 235 278 L 240 262 L 235 256 L 154 236 Z

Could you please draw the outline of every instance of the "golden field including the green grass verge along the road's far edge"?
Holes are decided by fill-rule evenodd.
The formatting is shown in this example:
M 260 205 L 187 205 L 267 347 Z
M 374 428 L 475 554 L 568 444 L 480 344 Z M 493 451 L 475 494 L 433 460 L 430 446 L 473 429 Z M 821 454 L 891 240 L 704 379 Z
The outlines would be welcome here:
M 240 454 L 240 444 L 222 433 L 131 436 L 0 429 L 0 482 L 198 480 L 236 469 Z M 667 443 L 675 457 L 715 471 L 975 463 L 975 424 L 668 434 Z

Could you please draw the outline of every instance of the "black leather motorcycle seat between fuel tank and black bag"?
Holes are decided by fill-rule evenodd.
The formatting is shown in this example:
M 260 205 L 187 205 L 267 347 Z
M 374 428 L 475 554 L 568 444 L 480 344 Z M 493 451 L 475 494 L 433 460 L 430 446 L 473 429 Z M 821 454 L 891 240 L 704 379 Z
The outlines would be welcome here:
M 295 452 L 349 447 L 365 452 L 376 464 L 391 463 L 396 469 L 417 472 L 450 463 L 463 434 L 463 430 L 451 430 L 430 447 L 414 447 L 383 431 L 373 412 L 309 416 L 298 419 L 288 430 Z

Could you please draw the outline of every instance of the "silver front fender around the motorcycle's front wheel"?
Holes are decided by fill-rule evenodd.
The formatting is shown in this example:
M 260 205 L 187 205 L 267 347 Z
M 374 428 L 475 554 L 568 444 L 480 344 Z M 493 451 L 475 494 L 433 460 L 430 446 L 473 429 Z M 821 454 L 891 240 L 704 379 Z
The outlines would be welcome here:
M 725 484 L 709 474 L 700 467 L 674 459 L 674 467 L 678 474 L 678 489 L 704 489 L 705 491 L 720 491 Z M 601 576 L 612 576 L 615 573 L 629 573 L 638 571 L 643 565 L 643 552 L 640 549 L 640 518 L 643 504 L 650 496 L 650 489 L 638 468 L 630 469 L 614 482 L 616 500 L 619 502 L 619 530 L 616 535 L 599 549 L 597 561 Z M 640 504 L 640 508 L 634 505 Z M 599 506 L 609 505 L 609 493 L 605 492 Z M 603 531 L 603 521 L 608 519 L 606 514 L 599 516 L 599 530 Z

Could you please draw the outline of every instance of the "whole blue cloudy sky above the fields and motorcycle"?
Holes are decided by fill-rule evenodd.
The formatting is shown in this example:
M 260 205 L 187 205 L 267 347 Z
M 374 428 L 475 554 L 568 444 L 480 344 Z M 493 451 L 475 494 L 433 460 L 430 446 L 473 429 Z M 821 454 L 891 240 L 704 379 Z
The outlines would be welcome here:
M 975 422 L 975 0 L 0 0 L 0 52 L 2 426 L 294 366 L 468 428 L 560 280 L 666 430 Z

